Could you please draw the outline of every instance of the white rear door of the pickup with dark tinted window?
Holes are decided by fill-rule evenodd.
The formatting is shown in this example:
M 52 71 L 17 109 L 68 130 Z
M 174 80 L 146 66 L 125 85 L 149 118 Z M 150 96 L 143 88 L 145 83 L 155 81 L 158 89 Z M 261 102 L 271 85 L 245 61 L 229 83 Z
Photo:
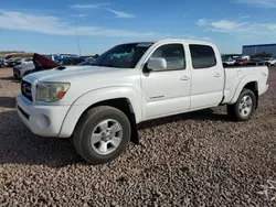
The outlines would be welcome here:
M 217 106 L 223 97 L 224 68 L 211 45 L 190 44 L 191 109 Z

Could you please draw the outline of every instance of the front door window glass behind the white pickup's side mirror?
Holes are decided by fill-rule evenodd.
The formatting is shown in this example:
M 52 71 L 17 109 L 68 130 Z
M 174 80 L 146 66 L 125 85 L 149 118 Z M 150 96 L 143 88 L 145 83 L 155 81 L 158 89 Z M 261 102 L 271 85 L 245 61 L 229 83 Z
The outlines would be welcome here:
M 155 51 L 150 58 L 164 58 L 167 69 L 184 69 L 185 55 L 182 44 L 167 44 Z

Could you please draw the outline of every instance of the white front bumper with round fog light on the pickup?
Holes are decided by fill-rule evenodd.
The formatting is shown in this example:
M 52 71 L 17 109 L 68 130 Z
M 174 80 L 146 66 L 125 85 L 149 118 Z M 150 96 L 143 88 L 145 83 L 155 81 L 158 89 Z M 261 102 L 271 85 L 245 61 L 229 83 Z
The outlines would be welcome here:
M 17 97 L 17 111 L 23 123 L 41 137 L 59 137 L 70 106 L 35 105 L 22 95 Z

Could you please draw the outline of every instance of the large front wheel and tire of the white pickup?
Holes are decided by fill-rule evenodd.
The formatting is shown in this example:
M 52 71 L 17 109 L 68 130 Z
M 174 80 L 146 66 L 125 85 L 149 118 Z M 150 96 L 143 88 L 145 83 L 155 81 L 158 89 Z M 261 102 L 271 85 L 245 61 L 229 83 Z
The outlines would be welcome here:
M 88 163 L 104 164 L 115 160 L 130 141 L 127 116 L 113 107 L 95 107 L 81 118 L 73 134 L 78 154 Z

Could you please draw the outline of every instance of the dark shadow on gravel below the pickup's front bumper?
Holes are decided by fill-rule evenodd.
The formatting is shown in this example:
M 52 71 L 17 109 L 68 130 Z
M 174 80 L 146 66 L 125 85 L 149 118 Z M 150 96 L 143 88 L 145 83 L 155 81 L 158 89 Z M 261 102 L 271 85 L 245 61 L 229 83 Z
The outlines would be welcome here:
M 0 112 L 0 165 L 34 164 L 63 167 L 85 163 L 67 139 L 41 138 L 32 134 L 17 111 Z

